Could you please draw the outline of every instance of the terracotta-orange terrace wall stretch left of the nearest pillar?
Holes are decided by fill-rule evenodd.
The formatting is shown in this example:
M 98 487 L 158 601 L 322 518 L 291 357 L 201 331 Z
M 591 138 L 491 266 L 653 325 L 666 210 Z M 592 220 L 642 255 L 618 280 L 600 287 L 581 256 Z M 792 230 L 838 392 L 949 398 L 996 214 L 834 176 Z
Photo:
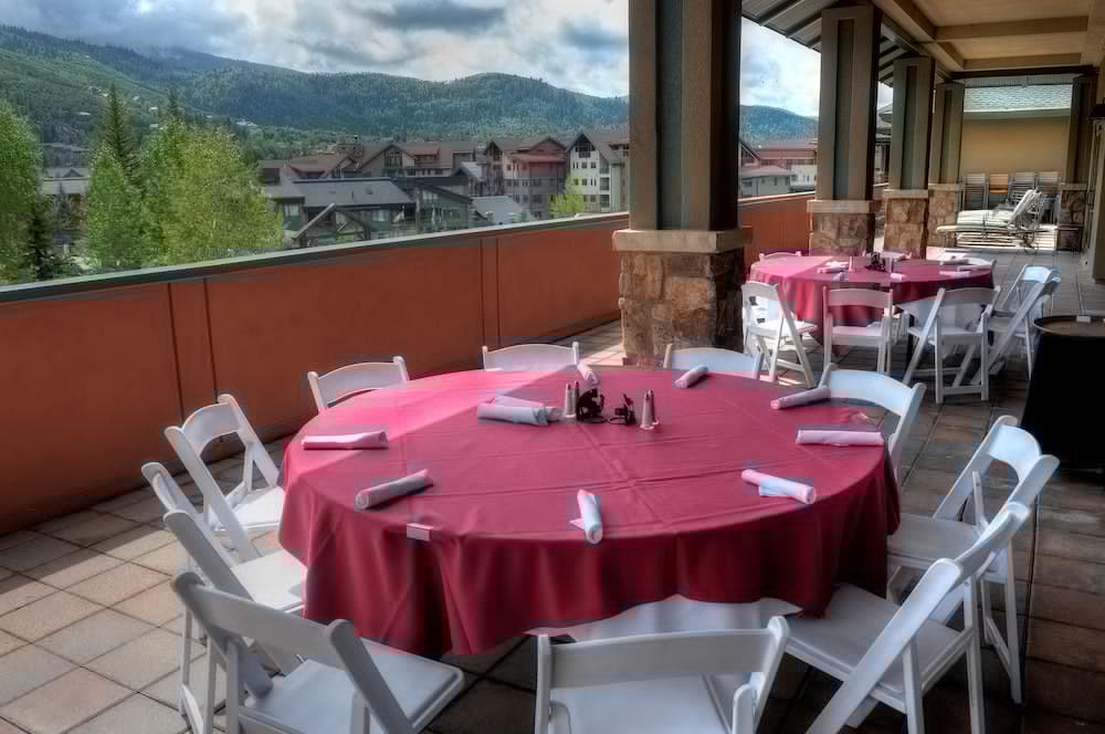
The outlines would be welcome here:
M 396 354 L 413 376 L 474 368 L 484 344 L 614 319 L 625 226 L 451 233 L 2 302 L 0 533 L 139 486 L 143 462 L 170 459 L 161 430 L 220 392 L 275 438 L 314 412 L 311 369 Z

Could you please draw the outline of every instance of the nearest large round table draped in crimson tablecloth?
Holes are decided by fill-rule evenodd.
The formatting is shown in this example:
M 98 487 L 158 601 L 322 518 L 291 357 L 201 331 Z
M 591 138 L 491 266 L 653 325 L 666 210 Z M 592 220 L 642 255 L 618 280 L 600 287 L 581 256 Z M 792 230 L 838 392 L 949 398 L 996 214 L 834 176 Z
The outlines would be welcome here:
M 533 629 L 567 628 L 682 595 L 778 599 L 820 615 L 839 583 L 880 596 L 898 522 L 885 451 L 801 447 L 801 426 L 857 419 L 854 406 L 775 411 L 790 392 L 709 375 L 676 389 L 665 370 L 600 370 L 607 415 L 655 391 L 654 431 L 476 418 L 497 395 L 559 405 L 560 373 L 470 371 L 347 400 L 307 423 L 284 454 L 281 543 L 307 566 L 304 614 L 420 654 L 477 653 Z M 860 417 L 862 419 L 862 417 Z M 387 450 L 305 450 L 308 434 L 386 427 Z M 760 497 L 744 469 L 812 483 L 818 500 Z M 433 486 L 366 512 L 359 490 L 429 470 Z M 594 493 L 603 537 L 569 525 Z M 409 537 L 409 523 L 430 528 Z

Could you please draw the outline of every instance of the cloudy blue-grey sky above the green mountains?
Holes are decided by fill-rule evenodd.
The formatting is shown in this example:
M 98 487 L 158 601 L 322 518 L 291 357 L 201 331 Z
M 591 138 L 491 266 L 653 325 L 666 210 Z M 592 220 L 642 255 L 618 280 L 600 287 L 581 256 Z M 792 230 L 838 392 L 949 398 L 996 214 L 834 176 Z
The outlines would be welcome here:
M 480 72 L 629 92 L 629 0 L 0 0 L 2 22 L 118 45 L 181 46 L 301 71 L 432 80 Z M 741 101 L 818 108 L 818 54 L 745 21 Z

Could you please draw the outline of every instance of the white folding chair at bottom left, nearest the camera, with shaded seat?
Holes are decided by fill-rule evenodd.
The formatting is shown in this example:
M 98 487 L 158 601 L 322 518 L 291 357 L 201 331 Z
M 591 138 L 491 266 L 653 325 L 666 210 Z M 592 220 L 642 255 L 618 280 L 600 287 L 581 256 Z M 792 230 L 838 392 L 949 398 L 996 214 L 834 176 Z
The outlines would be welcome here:
M 414 734 L 464 685 L 452 665 L 357 637 L 352 623 L 318 622 L 206 586 L 183 574 L 172 587 L 227 671 L 227 734 Z M 245 638 L 301 659 L 270 679 Z

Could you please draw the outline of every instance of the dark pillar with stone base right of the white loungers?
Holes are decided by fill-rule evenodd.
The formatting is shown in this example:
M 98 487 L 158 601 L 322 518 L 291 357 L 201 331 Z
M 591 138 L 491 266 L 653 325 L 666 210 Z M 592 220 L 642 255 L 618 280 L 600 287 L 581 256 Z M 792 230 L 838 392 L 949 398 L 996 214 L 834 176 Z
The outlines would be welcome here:
M 1094 138 L 1090 113 L 1094 106 L 1097 77 L 1075 77 L 1071 88 L 1071 125 L 1066 138 L 1066 171 L 1059 186 L 1059 250 L 1082 249 L 1082 231 L 1086 224 L 1090 157 Z

